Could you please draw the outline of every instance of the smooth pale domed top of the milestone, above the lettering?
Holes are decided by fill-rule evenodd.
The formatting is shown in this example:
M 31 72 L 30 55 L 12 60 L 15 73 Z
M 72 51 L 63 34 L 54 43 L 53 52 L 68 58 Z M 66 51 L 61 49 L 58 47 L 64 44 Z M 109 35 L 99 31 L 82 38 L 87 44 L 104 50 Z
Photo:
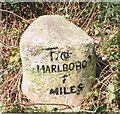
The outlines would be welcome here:
M 64 42 L 64 44 L 63 44 Z M 44 15 L 36 19 L 26 29 L 21 38 L 21 45 L 61 46 L 92 43 L 82 29 L 60 15 Z

